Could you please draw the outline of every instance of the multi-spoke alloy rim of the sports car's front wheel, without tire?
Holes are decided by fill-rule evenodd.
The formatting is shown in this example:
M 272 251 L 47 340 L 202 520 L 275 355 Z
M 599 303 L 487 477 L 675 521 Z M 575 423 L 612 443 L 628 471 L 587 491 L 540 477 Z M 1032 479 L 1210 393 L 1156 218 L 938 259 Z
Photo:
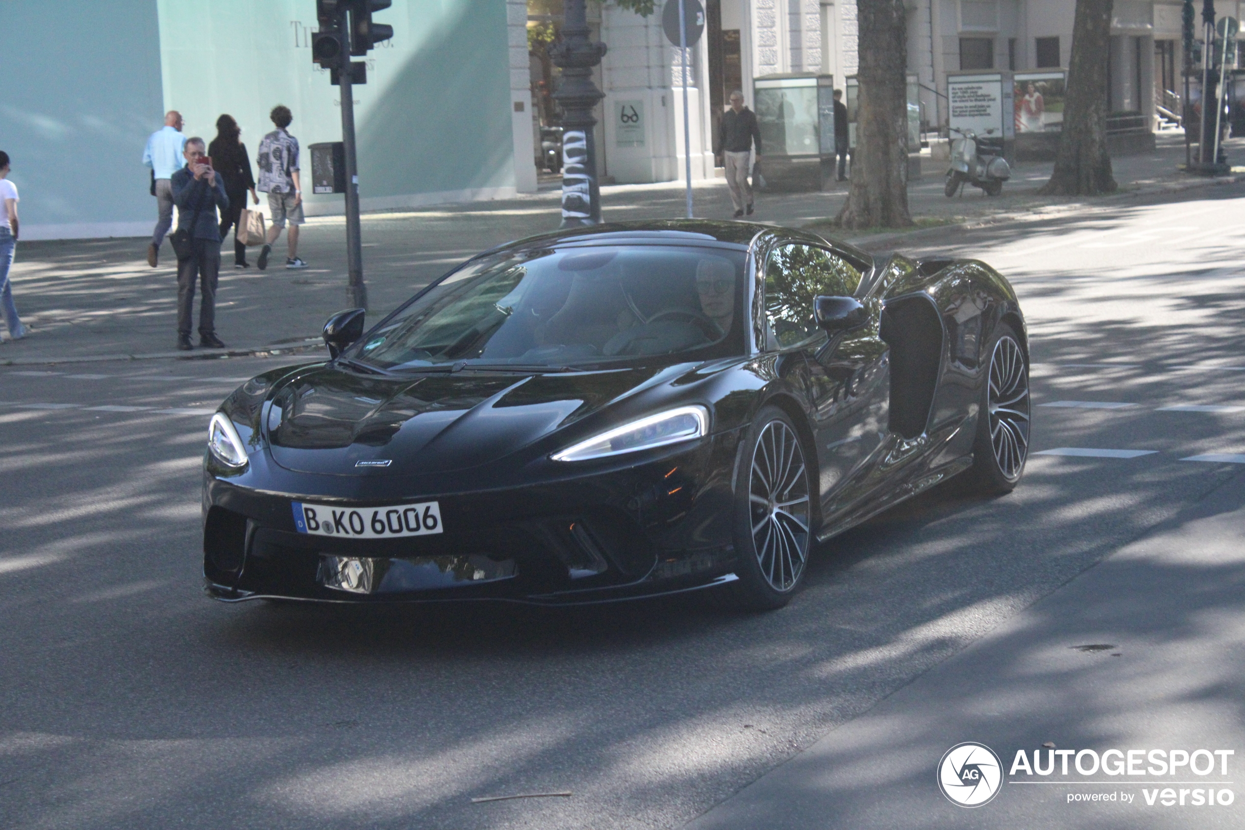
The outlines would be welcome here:
M 776 591 L 789 591 L 808 559 L 809 498 L 804 453 L 782 421 L 766 424 L 752 450 L 748 501 L 761 575 Z

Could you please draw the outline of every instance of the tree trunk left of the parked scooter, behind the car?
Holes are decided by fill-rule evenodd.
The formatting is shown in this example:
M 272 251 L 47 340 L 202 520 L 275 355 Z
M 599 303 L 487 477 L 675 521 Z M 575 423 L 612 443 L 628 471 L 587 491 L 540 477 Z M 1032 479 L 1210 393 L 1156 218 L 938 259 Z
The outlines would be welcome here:
M 908 39 L 904 0 L 857 0 L 860 102 L 842 228 L 906 228 Z

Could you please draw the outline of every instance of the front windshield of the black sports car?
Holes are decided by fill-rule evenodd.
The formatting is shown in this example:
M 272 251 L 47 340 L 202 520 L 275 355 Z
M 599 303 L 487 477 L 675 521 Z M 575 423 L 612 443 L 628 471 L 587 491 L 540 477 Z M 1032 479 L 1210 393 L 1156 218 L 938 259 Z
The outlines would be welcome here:
M 400 309 L 349 357 L 388 371 L 710 360 L 743 352 L 745 251 L 505 251 Z

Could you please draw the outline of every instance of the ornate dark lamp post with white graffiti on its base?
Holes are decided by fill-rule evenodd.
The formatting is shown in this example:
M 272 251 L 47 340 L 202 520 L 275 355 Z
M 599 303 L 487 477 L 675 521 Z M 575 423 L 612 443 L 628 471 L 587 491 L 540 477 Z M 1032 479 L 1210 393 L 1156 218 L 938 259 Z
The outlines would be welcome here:
M 561 41 L 549 49 L 561 68 L 553 97 L 563 108 L 561 226 L 595 225 L 601 220 L 601 190 L 596 182 L 596 139 L 593 107 L 605 95 L 593 83 L 593 67 L 601 62 L 605 44 L 589 40 L 585 0 L 565 0 Z

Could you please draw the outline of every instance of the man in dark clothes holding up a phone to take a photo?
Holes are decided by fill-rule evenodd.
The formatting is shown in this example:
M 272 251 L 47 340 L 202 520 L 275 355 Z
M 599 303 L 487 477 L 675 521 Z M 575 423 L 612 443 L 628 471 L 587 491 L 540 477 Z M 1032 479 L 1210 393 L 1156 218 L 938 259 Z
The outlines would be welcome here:
M 199 304 L 199 346 L 224 348 L 215 333 L 217 276 L 220 273 L 220 224 L 217 208 L 229 207 L 224 183 L 212 169 L 202 138 L 186 142 L 187 166 L 173 173 L 173 204 L 177 205 L 177 230 L 188 231 L 189 256 L 177 260 L 177 347 L 190 345 L 190 321 L 194 311 L 194 284 L 199 282 L 203 297 Z

